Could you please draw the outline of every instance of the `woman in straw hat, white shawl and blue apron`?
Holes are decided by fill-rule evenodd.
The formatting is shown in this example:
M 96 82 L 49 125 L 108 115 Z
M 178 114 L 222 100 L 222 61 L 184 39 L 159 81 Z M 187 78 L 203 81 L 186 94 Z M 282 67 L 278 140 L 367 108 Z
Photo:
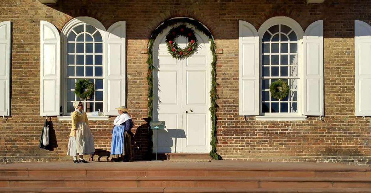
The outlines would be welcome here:
M 119 158 L 114 160 L 115 162 L 126 162 L 129 161 L 129 156 L 131 155 L 130 130 L 133 127 L 133 122 L 125 106 L 116 109 L 119 115 L 115 118 L 115 126 L 112 130 L 111 155 L 120 155 Z

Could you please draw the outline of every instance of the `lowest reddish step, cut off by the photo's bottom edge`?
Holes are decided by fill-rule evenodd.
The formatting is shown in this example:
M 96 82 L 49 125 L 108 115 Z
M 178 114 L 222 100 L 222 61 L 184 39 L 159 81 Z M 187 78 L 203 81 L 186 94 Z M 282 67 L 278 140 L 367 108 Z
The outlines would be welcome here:
M 371 193 L 371 189 L 241 189 L 241 188 L 174 188 L 174 187 L 154 187 L 154 188 L 19 188 L 6 187 L 0 189 L 1 193 Z

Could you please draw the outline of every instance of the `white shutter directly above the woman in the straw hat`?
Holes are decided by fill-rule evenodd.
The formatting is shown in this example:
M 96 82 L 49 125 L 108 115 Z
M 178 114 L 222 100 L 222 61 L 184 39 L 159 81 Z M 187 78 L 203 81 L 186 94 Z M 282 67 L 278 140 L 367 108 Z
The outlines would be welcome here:
M 104 115 L 117 115 L 125 105 L 125 21 L 112 24 L 105 35 Z

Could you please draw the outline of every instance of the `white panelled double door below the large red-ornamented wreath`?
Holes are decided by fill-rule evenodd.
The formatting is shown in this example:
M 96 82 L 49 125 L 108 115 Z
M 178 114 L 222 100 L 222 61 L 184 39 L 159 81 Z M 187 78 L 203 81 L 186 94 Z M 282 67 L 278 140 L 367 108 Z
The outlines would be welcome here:
M 154 52 L 154 121 L 166 126 L 154 131 L 154 152 L 157 142 L 162 153 L 210 151 L 210 59 L 210 52 L 184 60 Z

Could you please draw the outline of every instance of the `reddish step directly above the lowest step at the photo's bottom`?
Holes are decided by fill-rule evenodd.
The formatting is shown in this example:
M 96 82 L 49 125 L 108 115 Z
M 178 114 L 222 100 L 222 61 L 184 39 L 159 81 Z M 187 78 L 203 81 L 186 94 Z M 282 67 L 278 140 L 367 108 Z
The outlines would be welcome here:
M 371 178 L 319 177 L 0 177 L 0 187 L 370 188 Z

